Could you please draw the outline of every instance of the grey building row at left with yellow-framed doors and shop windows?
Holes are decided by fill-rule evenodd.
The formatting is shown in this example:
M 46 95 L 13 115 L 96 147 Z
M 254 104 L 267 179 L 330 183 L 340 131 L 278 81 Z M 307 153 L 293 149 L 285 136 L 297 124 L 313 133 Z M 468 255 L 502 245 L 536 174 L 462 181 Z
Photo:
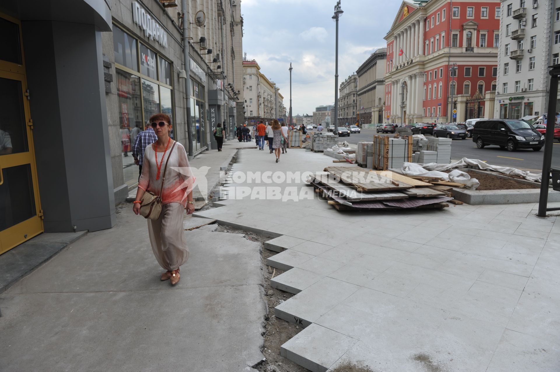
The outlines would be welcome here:
M 9 201 L 0 204 L 0 253 L 41 232 L 113 227 L 115 204 L 137 186 L 131 147 L 151 115 L 169 115 L 173 138 L 193 154 L 212 148 L 218 123 L 230 133 L 241 100 L 234 88 L 242 63 L 239 1 L 189 1 L 186 10 L 178 3 L 0 4 L 8 46 L 0 54 L 7 103 L 0 130 L 12 145 L 0 155 L 0 192 Z M 198 11 L 206 14 L 204 27 L 195 24 Z

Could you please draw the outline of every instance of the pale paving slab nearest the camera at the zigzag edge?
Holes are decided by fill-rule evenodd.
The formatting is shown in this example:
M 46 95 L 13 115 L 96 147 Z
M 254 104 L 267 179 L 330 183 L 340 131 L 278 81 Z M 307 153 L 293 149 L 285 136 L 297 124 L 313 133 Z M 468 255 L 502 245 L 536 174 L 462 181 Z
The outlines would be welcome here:
M 325 372 L 357 341 L 312 324 L 284 343 L 280 354 L 312 372 Z

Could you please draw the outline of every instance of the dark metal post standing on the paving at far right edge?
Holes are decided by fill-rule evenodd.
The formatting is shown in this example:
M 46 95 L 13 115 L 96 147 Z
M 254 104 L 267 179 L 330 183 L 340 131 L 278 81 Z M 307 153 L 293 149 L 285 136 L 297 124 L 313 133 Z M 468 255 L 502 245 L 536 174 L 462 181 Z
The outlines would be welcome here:
M 558 66 L 558 65 L 557 65 Z M 550 89 L 548 91 L 547 132 L 544 136 L 543 173 L 540 178 L 539 217 L 547 215 L 548 183 L 550 182 L 550 167 L 552 166 L 552 148 L 554 144 L 554 124 L 556 124 L 556 100 L 558 96 L 557 68 L 550 70 Z

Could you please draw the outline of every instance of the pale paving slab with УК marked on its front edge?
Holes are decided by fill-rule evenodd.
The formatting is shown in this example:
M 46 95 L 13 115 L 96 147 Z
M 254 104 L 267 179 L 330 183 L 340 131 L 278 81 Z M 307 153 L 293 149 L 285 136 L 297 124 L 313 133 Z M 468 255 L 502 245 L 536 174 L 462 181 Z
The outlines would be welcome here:
M 357 291 L 360 287 L 325 277 L 274 308 L 274 315 L 287 322 L 309 326 L 320 316 Z

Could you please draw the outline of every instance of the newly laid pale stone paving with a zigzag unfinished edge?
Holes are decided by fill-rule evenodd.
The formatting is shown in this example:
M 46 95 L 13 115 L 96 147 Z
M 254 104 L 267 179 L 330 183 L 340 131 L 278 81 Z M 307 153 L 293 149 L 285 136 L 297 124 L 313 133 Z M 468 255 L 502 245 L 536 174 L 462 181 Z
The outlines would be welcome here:
M 246 151 L 232 171 L 333 164 L 300 149 L 279 163 Z M 227 186 L 309 189 L 237 180 Z M 365 213 L 316 197 L 220 203 L 195 215 L 274 238 L 265 247 L 281 253 L 268 264 L 288 271 L 271 285 L 296 294 L 275 314 L 305 328 L 282 355 L 311 371 L 560 370 L 560 219 L 536 217 L 534 203 Z

